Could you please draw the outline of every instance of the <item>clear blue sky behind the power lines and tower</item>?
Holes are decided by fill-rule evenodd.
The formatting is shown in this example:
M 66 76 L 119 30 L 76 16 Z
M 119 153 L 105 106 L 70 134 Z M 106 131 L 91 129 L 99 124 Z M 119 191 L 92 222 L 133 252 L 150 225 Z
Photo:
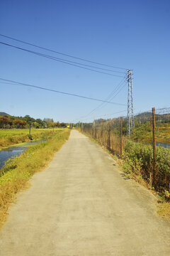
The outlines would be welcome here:
M 133 70 L 135 113 L 170 107 L 169 0 L 1 0 L 0 33 L 53 50 Z M 0 36 L 0 41 L 37 50 Z M 55 53 L 51 53 L 55 55 Z M 94 73 L 0 45 L 0 77 L 105 100 L 121 78 Z M 55 55 L 64 58 L 61 55 Z M 77 61 L 74 59 L 70 59 Z M 88 63 L 86 63 L 88 64 Z M 1 86 L 0 111 L 81 120 L 100 102 L 14 85 Z M 127 104 L 128 87 L 113 99 Z M 123 111 L 120 114 L 111 114 Z M 127 114 L 105 105 L 96 117 Z M 106 114 L 106 116 L 105 116 Z M 93 115 L 83 119 L 89 122 Z

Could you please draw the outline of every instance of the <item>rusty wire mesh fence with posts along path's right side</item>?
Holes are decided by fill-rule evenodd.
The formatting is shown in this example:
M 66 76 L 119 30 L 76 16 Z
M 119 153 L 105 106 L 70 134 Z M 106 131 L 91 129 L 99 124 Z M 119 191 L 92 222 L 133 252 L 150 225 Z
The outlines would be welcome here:
M 81 132 L 131 161 L 132 170 L 157 191 L 170 191 L 170 108 L 135 115 L 135 127 L 128 137 L 128 118 L 98 119 L 82 124 Z M 170 194 L 169 194 L 170 198 Z

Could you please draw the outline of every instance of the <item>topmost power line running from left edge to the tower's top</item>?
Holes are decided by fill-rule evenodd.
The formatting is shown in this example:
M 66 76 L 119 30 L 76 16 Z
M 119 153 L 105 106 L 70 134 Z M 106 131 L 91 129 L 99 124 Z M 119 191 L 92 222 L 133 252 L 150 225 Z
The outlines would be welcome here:
M 67 57 L 70 57 L 70 58 L 75 58 L 77 60 L 84 60 L 84 61 L 89 62 L 89 63 L 94 63 L 94 64 L 97 64 L 97 65 L 103 65 L 103 66 L 110 67 L 110 68 L 117 68 L 117 69 L 120 69 L 120 70 L 128 70 L 127 68 L 119 68 L 119 67 L 115 67 L 113 65 L 107 65 L 107 64 L 103 64 L 103 63 L 98 63 L 98 62 L 95 62 L 95 61 L 92 61 L 92 60 L 86 60 L 84 58 L 75 57 L 74 55 L 69 55 L 69 54 L 66 54 L 66 53 L 61 53 L 61 52 L 58 52 L 56 50 L 51 50 L 49 48 L 45 48 L 45 47 L 42 47 L 42 46 L 36 46 L 33 43 L 27 43 L 25 41 L 21 41 L 21 40 L 18 40 L 16 38 L 12 38 L 10 36 L 5 36 L 5 35 L 2 35 L 2 34 L 0 34 L 0 36 L 3 36 L 4 38 L 9 38 L 9 39 L 11 39 L 13 41 L 18 41 L 20 43 L 25 43 L 25 44 L 27 44 L 29 46 L 34 46 L 36 48 L 40 48 L 40 49 L 43 49 L 43 50 L 48 50 L 48 51 L 50 51 L 52 53 L 57 53 L 57 54 L 64 55 L 64 56 L 67 56 Z

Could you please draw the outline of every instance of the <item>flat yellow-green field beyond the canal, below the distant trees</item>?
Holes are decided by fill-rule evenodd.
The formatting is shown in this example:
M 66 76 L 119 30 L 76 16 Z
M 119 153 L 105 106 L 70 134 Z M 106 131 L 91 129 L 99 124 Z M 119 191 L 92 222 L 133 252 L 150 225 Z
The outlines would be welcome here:
M 55 131 L 60 129 L 55 129 Z M 0 129 L 0 148 L 42 139 L 45 134 L 51 134 L 53 129 L 32 129 L 29 135 L 28 129 Z

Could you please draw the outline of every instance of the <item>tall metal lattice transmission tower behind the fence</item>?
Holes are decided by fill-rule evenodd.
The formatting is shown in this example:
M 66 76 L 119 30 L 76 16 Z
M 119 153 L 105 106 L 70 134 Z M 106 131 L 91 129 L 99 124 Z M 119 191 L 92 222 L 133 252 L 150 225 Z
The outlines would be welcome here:
M 134 121 L 134 110 L 133 110 L 133 92 L 132 92 L 132 70 L 127 71 L 127 80 L 128 80 L 128 125 L 127 133 L 130 137 L 132 128 L 135 127 Z

